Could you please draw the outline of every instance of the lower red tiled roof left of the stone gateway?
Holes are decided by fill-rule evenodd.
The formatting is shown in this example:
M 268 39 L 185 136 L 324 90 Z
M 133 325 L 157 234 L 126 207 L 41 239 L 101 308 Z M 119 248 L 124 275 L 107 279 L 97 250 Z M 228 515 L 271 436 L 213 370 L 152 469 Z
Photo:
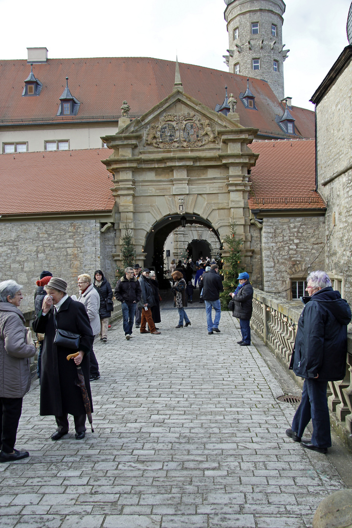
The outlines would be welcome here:
M 0 214 L 109 212 L 106 148 L 0 155 Z

